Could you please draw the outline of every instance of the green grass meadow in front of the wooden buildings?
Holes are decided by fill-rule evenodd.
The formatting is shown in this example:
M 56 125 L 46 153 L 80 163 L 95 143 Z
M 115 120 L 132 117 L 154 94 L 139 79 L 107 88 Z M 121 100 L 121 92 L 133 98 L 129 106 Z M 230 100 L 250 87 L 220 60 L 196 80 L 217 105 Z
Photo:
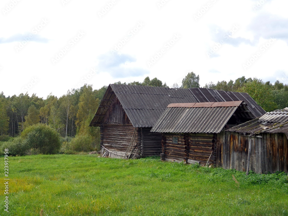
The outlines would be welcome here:
M 285 173 L 247 177 L 159 158 L 9 157 L 9 213 L 3 178 L 1 215 L 288 215 Z

